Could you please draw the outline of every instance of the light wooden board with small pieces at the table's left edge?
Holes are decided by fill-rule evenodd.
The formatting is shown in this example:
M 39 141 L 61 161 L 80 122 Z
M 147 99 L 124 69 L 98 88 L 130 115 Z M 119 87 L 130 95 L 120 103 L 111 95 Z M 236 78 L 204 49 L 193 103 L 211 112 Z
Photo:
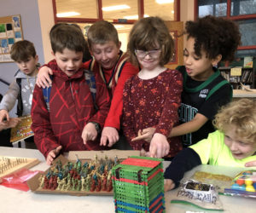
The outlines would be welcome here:
M 7 176 L 21 169 L 29 169 L 39 164 L 37 158 L 16 158 L 0 156 L 0 177 Z

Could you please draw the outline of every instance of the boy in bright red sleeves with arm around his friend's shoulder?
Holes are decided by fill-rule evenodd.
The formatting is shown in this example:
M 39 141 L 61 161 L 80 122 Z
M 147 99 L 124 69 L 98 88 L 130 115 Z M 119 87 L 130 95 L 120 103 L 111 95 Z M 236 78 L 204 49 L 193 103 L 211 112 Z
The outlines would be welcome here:
M 87 33 L 90 52 L 93 60 L 85 62 L 96 76 L 100 76 L 108 86 L 112 101 L 111 107 L 102 130 L 101 145 L 112 147 L 119 141 L 120 119 L 123 110 L 123 89 L 125 81 L 137 74 L 138 69 L 127 61 L 127 55 L 121 50 L 118 32 L 115 27 L 106 20 L 100 20 L 90 26 Z M 50 63 L 49 63 L 50 64 Z M 50 79 L 48 69 L 43 67 L 38 75 L 38 86 L 49 86 Z M 49 83 L 47 83 L 49 82 Z M 121 143 L 123 141 L 119 141 Z M 125 144 L 117 144 L 117 148 L 126 148 Z

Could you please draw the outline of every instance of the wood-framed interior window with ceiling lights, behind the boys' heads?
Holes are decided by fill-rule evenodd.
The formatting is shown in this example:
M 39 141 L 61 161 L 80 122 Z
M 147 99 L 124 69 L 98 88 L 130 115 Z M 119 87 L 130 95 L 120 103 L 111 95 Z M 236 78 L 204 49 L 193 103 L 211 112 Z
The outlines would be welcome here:
M 139 17 L 158 15 L 163 20 L 179 20 L 179 3 L 180 0 L 53 0 L 53 7 L 55 23 L 77 23 L 85 37 L 96 20 L 113 22 L 125 51 L 131 27 Z

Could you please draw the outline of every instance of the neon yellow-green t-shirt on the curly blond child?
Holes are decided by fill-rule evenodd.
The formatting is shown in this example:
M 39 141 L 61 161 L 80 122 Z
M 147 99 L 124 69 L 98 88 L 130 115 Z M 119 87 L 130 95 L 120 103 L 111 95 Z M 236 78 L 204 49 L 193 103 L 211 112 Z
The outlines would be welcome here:
M 198 153 L 202 164 L 245 167 L 244 164 L 247 162 L 256 160 L 256 155 L 242 159 L 234 158 L 230 148 L 224 144 L 224 133 L 219 130 L 210 133 L 207 139 L 199 141 L 190 148 Z M 250 169 L 255 170 L 256 167 Z

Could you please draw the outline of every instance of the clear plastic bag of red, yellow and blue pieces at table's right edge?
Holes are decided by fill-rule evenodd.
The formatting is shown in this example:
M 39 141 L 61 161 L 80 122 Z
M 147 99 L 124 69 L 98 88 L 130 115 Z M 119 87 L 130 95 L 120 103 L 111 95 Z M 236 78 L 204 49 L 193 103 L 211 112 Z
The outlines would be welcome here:
M 239 173 L 232 181 L 231 187 L 224 189 L 224 194 L 256 199 L 256 170 Z

